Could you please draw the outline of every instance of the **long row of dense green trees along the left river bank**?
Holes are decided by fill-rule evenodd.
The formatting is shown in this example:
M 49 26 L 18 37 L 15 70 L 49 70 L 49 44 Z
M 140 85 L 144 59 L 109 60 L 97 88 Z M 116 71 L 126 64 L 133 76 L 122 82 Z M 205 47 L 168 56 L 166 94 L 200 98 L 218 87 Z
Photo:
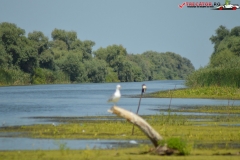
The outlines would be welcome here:
M 93 51 L 95 42 L 56 28 L 51 38 L 0 23 L 0 85 L 184 79 L 194 71 L 187 58 L 172 52 L 130 54 L 116 44 Z

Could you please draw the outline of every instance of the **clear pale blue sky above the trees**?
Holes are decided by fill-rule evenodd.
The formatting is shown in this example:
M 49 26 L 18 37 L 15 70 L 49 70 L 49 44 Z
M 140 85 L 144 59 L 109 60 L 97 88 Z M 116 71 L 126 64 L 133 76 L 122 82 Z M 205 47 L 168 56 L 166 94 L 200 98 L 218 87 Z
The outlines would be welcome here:
M 213 52 L 209 38 L 223 25 L 240 26 L 240 9 L 180 9 L 185 0 L 0 0 L 0 23 L 14 23 L 26 32 L 51 38 L 57 29 L 76 31 L 78 39 L 95 42 L 93 50 L 122 45 L 129 54 L 174 52 L 195 69 L 204 67 Z M 186 2 L 202 2 L 191 0 Z M 220 2 L 204 1 L 204 2 Z M 232 0 L 239 4 L 240 0 Z

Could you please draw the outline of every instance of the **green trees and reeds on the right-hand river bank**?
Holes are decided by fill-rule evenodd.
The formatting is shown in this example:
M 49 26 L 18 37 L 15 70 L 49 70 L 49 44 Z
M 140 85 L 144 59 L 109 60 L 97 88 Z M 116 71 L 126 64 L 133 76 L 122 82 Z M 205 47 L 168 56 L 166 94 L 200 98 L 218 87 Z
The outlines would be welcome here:
M 228 86 L 240 87 L 240 26 L 231 30 L 224 26 L 210 37 L 214 51 L 207 66 L 187 77 L 190 87 Z

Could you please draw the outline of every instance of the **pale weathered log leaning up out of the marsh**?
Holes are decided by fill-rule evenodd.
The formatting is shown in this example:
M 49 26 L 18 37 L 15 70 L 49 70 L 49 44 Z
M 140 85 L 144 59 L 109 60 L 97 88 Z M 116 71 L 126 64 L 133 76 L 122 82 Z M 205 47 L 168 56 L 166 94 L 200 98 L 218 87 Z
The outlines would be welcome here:
M 108 112 L 114 113 L 120 117 L 127 119 L 129 122 L 133 123 L 139 127 L 144 134 L 151 140 L 155 147 L 158 147 L 159 141 L 162 140 L 162 136 L 159 135 L 144 119 L 135 113 L 127 111 L 118 106 L 113 106 Z

